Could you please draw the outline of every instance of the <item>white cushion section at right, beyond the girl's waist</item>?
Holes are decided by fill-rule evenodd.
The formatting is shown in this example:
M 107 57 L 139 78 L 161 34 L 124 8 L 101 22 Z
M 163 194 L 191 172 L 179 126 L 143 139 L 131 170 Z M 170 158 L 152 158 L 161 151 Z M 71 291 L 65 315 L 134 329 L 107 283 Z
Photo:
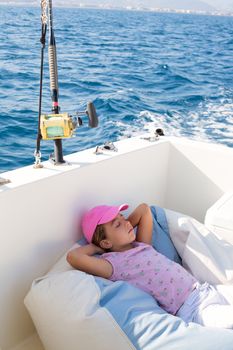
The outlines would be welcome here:
M 165 209 L 171 240 L 183 266 L 200 282 L 233 283 L 233 245 L 205 225 Z

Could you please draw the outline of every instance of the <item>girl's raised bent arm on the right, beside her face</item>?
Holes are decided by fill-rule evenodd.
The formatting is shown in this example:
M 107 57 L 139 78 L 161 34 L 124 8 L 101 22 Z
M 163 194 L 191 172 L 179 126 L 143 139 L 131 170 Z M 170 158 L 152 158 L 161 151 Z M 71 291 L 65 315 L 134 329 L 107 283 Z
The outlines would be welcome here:
M 137 226 L 137 241 L 151 244 L 153 218 L 150 207 L 142 203 L 128 217 L 132 226 Z

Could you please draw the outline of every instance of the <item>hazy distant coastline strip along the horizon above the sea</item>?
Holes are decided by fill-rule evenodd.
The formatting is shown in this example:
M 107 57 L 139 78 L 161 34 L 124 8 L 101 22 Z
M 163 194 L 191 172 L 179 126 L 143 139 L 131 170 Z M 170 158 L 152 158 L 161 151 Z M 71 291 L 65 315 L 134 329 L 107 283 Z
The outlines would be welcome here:
M 0 0 L 0 6 L 16 6 L 16 7 L 40 7 L 38 6 L 38 1 L 33 1 L 28 4 L 28 2 L 14 2 L 14 1 L 1 1 Z M 29 5 L 29 6 L 28 6 Z M 180 14 L 197 14 L 197 15 L 208 15 L 208 16 L 233 16 L 232 11 L 197 11 L 197 10 L 183 10 L 183 9 L 170 9 L 170 8 L 147 8 L 147 7 L 141 7 L 141 6 L 110 6 L 110 5 L 102 5 L 102 6 L 96 6 L 96 5 L 85 5 L 85 4 L 75 4 L 71 3 L 69 6 L 66 4 L 56 4 L 54 8 L 80 8 L 80 9 L 98 9 L 98 10 L 125 10 L 125 11 L 144 11 L 144 12 L 158 12 L 158 13 L 180 13 Z

